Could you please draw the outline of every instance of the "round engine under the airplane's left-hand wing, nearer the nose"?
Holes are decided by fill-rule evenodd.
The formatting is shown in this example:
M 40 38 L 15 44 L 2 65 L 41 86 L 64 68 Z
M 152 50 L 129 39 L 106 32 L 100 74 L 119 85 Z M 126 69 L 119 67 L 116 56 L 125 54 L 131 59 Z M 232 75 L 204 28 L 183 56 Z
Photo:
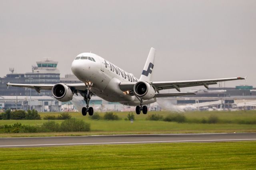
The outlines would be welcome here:
M 73 98 L 72 90 L 65 84 L 59 83 L 52 87 L 52 95 L 58 101 L 66 102 Z

